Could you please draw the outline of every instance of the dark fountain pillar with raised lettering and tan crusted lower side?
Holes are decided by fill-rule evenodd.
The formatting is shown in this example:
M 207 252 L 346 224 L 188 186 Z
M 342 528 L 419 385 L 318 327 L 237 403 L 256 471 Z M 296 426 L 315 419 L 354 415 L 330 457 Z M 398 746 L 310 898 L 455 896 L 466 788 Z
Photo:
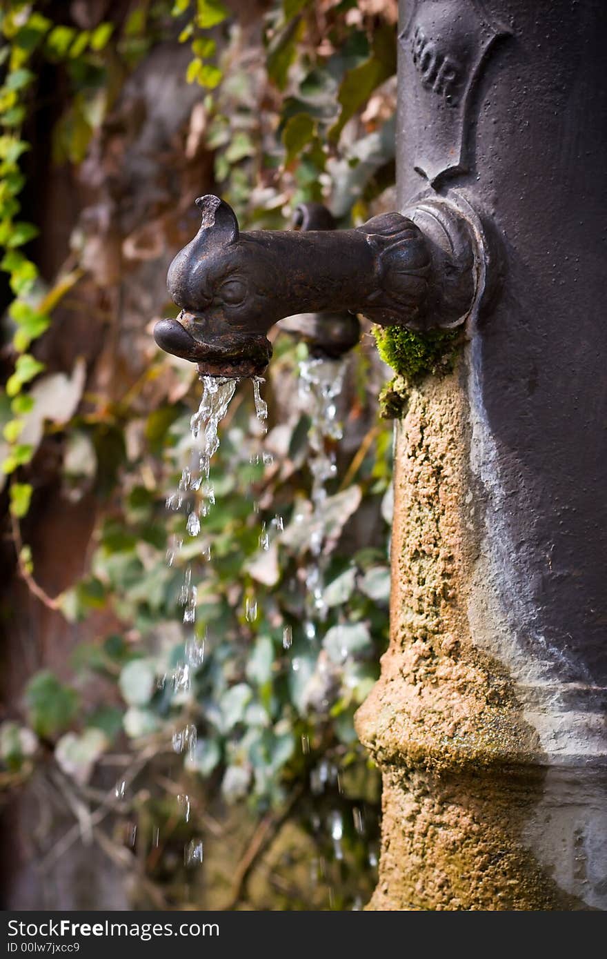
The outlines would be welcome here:
M 401 209 L 469 202 L 499 289 L 396 425 L 370 905 L 605 909 L 607 6 L 404 0 L 399 29 Z

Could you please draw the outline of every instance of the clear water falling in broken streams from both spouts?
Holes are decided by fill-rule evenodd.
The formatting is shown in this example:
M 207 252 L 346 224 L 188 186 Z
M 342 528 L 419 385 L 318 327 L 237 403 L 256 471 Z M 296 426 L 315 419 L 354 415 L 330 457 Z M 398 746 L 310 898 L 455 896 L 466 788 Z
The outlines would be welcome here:
M 322 627 L 327 620 L 329 609 L 325 601 L 325 576 L 329 556 L 325 550 L 327 500 L 329 484 L 337 475 L 336 444 L 342 437 L 342 427 L 338 418 L 337 400 L 341 392 L 346 361 L 327 361 L 309 358 L 299 363 L 299 393 L 302 408 L 310 415 L 311 426 L 309 431 L 308 466 L 312 475 L 312 490 L 310 500 L 312 512 L 306 517 L 310 524 L 308 561 L 304 569 L 306 587 L 304 603 L 303 629 L 306 638 L 320 648 L 322 642 Z M 204 521 L 215 505 L 215 489 L 210 479 L 210 468 L 213 457 L 220 447 L 220 424 L 225 417 L 230 403 L 240 383 L 238 379 L 215 378 L 204 376 L 202 382 L 202 397 L 197 412 L 191 418 L 191 446 L 187 454 L 187 462 L 183 467 L 178 488 L 167 498 L 167 507 L 178 511 L 184 516 L 184 525 L 181 533 L 175 536 L 167 554 L 170 566 L 183 560 L 181 553 L 184 543 L 188 539 L 199 538 L 200 550 L 198 556 L 211 559 L 210 546 L 204 538 Z M 263 432 L 267 432 L 268 406 L 261 396 L 261 386 L 264 380 L 254 378 L 252 381 L 255 411 Z M 259 452 L 251 456 L 251 462 L 263 462 L 269 465 L 271 454 Z M 259 512 L 253 504 L 255 512 Z M 260 523 L 259 547 L 260 550 L 269 550 L 271 540 L 275 534 L 284 528 L 281 516 L 274 516 L 271 521 Z M 176 664 L 171 676 L 175 693 L 187 693 L 190 690 L 192 675 L 204 660 L 204 631 L 201 624 L 196 622 L 197 616 L 197 586 L 193 581 L 193 568 L 190 562 L 184 566 L 183 578 L 179 590 L 179 603 L 183 607 L 182 629 L 184 640 L 184 658 Z M 253 623 L 258 616 L 256 597 L 249 592 L 245 595 L 245 620 Z M 283 628 L 282 645 L 287 652 L 293 642 L 292 626 L 287 624 Z M 298 668 L 298 659 L 292 660 L 294 671 Z M 189 753 L 193 758 L 197 747 L 197 727 L 187 722 L 183 727 L 175 730 L 173 735 L 173 749 L 175 753 Z M 310 753 L 310 742 L 307 735 L 301 739 L 301 749 L 305 755 Z M 311 789 L 313 794 L 319 795 L 325 790 L 336 789 L 341 792 L 339 783 L 339 769 L 334 762 L 320 760 L 311 771 Z M 328 793 L 329 794 L 329 793 Z M 181 815 L 186 822 L 190 821 L 190 797 L 180 794 L 177 803 Z M 362 835 L 364 832 L 362 811 L 353 810 L 354 827 Z M 323 821 L 318 823 L 318 830 L 324 831 L 330 837 L 333 854 L 339 864 L 343 859 L 342 838 L 344 834 L 344 820 L 338 809 L 331 811 Z M 187 866 L 196 866 L 203 859 L 203 842 L 195 836 L 184 847 L 184 862 Z M 328 884 L 330 902 L 333 901 L 335 890 L 329 880 L 327 864 L 324 860 L 317 860 L 316 876 L 323 877 Z M 316 879 L 317 881 L 317 879 Z M 356 906 L 355 906 L 356 908 Z

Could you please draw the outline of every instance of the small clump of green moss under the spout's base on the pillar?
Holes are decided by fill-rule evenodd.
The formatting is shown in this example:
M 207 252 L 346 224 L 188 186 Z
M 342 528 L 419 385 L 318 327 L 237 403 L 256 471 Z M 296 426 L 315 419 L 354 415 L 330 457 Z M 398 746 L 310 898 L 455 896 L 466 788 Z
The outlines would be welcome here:
M 382 416 L 402 416 L 411 386 L 425 376 L 453 369 L 461 330 L 428 330 L 417 333 L 402 326 L 376 326 L 373 329 L 379 354 L 395 376 L 380 394 Z

